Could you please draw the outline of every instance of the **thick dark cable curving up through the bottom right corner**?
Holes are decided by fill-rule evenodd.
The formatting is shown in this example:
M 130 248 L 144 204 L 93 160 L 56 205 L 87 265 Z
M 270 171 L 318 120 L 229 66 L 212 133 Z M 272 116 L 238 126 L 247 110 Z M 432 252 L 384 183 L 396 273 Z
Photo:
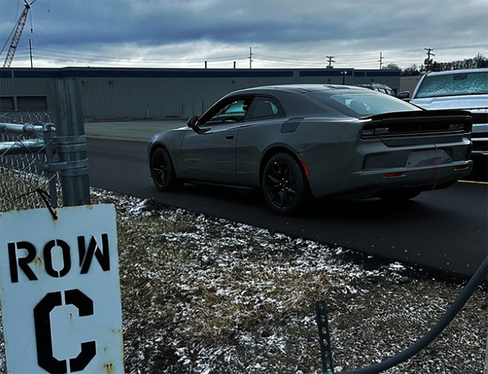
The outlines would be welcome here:
M 402 351 L 393 357 L 386 359 L 378 364 L 367 366 L 366 368 L 356 369 L 348 372 L 341 372 L 341 374 L 355 374 L 355 373 L 381 373 L 387 369 L 392 368 L 404 361 L 407 361 L 413 355 L 422 351 L 437 335 L 439 335 L 452 321 L 456 314 L 464 307 L 469 297 L 476 290 L 478 285 L 483 281 L 488 273 L 488 257 L 485 258 L 483 264 L 476 270 L 474 275 L 469 280 L 466 287 L 461 291 L 457 299 L 452 303 L 446 313 L 437 321 L 437 323 L 416 343 L 408 347 L 405 351 Z

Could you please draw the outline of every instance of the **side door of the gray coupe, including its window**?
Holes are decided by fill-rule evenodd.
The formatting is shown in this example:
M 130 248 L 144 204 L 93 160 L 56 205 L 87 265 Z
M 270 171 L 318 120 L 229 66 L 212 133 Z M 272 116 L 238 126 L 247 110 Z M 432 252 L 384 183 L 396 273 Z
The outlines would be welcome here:
M 199 131 L 183 137 L 183 178 L 235 184 L 236 142 L 251 97 L 225 99 L 207 111 L 197 123 Z

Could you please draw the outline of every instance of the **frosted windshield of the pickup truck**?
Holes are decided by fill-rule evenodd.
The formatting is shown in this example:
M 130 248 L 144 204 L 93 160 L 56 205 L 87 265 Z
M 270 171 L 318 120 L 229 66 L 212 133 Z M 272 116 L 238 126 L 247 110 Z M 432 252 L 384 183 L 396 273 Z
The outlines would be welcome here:
M 488 94 L 488 73 L 459 73 L 427 75 L 419 87 L 415 99 L 435 96 Z

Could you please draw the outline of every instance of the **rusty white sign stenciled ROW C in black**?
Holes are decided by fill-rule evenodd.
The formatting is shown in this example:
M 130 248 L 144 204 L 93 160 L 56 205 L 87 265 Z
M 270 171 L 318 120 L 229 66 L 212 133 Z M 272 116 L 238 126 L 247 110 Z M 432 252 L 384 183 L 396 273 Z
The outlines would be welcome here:
M 113 205 L 0 213 L 9 373 L 123 373 Z

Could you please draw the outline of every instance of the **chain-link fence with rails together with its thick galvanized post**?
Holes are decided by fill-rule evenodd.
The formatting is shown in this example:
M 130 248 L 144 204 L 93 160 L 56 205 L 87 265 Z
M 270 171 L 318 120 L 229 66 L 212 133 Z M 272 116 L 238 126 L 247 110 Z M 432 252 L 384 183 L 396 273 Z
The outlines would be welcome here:
M 55 114 L 0 113 L 0 211 L 45 206 L 40 190 L 53 208 L 90 203 L 79 82 L 56 80 L 54 92 Z

